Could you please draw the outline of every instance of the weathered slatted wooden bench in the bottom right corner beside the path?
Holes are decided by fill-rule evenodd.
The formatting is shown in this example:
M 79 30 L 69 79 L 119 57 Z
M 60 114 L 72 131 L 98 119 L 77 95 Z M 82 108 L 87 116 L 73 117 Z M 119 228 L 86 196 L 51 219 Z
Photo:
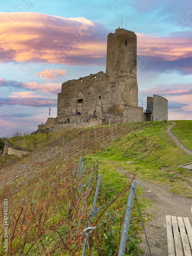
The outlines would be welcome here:
M 168 256 L 191 256 L 192 229 L 188 218 L 167 215 L 166 229 Z

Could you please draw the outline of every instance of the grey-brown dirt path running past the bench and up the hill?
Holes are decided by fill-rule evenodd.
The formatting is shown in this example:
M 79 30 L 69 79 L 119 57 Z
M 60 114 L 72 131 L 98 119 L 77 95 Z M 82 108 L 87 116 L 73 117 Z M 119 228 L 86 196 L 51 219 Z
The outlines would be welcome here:
M 192 155 L 178 138 L 170 132 L 170 129 L 176 123 L 168 126 L 167 134 L 173 138 L 175 143 L 182 148 L 187 154 Z M 120 168 L 117 163 L 112 163 L 116 166 L 117 170 L 125 175 L 128 179 L 131 178 L 127 171 Z M 163 185 L 157 185 L 149 181 L 142 181 L 136 177 L 137 186 L 144 189 L 144 198 L 148 199 L 152 205 L 151 208 L 141 212 L 141 215 L 152 214 L 152 220 L 145 222 L 145 232 L 147 235 L 148 243 L 150 244 L 151 253 L 153 256 L 167 256 L 167 237 L 166 237 L 166 215 L 174 215 L 177 217 L 188 217 L 189 222 L 192 224 L 192 199 L 184 198 L 169 192 L 169 188 Z M 143 235 L 143 242 L 141 247 L 144 249 L 143 256 L 150 256 L 145 237 Z

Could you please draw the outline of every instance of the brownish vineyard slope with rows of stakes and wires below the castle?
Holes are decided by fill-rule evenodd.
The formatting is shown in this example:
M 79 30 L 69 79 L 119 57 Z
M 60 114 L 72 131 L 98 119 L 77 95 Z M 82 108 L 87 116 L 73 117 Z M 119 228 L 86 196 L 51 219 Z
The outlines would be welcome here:
M 113 177 L 89 155 L 143 126 L 121 123 L 10 139 L 32 152 L 8 159 L 3 168 L 1 202 L 8 200 L 10 235 L 5 253 L 5 229 L 1 233 L 0 255 L 116 255 L 135 175 L 129 181 Z M 138 212 L 133 216 L 126 253 L 138 255 L 141 227 Z

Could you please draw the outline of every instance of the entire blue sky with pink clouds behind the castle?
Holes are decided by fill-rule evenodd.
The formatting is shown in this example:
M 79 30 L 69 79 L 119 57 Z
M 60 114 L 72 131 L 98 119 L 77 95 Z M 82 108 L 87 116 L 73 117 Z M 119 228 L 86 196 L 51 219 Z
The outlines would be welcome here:
M 169 120 L 192 120 L 192 1 L 2 0 L 0 137 L 36 131 L 63 82 L 105 72 L 118 26 L 137 35 L 139 106 L 157 94 Z

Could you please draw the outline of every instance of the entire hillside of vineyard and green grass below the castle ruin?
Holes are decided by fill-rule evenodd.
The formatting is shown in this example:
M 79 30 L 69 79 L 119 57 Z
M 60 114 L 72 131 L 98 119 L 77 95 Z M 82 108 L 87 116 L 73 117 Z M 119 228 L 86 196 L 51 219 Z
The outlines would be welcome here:
M 191 150 L 192 121 L 176 122 L 173 133 Z M 82 231 L 89 224 L 99 173 L 102 182 L 96 207 L 102 210 L 93 217 L 96 228 L 90 233 L 86 255 L 88 252 L 114 255 L 117 251 L 127 188 L 135 175 L 191 198 L 191 172 L 178 165 L 190 163 L 192 159 L 166 134 L 169 124 L 123 123 L 10 139 L 15 146 L 31 150 L 22 159 L 0 158 L 1 208 L 7 197 L 12 255 L 82 255 L 85 239 Z M 79 162 L 80 156 L 83 163 Z M 92 184 L 86 189 L 92 168 Z M 86 186 L 81 188 L 81 184 Z M 145 208 L 150 204 L 142 197 L 141 188 L 137 187 L 136 193 L 143 219 L 147 221 L 152 218 L 145 215 Z M 1 214 L 3 226 L 4 212 Z M 134 203 L 126 253 L 135 251 L 134 255 L 141 255 L 141 232 Z M 0 255 L 5 254 L 4 242 L 2 239 Z

